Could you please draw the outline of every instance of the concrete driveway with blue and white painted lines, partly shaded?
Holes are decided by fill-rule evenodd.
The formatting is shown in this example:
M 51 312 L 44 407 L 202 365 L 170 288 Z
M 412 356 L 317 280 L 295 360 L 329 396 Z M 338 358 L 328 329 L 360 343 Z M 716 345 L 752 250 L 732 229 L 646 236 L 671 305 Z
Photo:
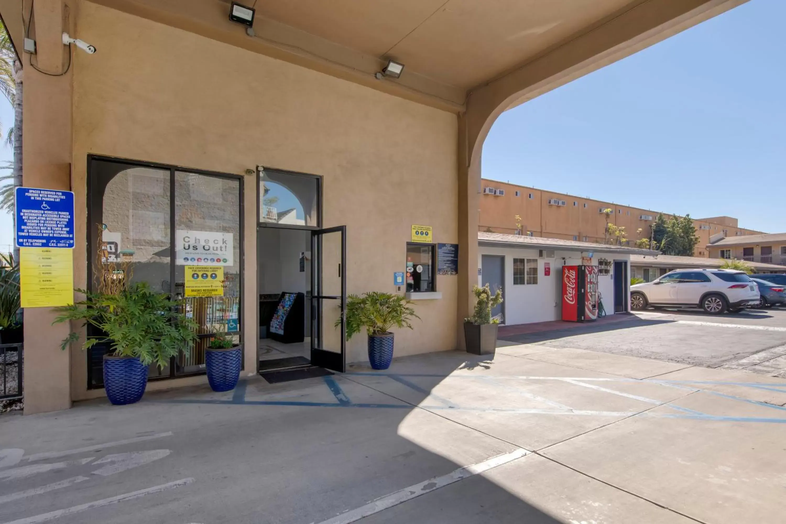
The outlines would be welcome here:
M 786 381 L 511 345 L 0 416 L 0 524 L 781 522 Z

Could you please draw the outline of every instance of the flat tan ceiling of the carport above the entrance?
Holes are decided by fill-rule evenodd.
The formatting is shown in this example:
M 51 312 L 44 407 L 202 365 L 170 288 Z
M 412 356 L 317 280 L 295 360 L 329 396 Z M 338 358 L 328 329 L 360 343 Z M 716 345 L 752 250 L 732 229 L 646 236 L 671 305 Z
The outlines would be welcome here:
M 469 89 L 504 74 L 630 0 L 288 0 L 257 13 Z

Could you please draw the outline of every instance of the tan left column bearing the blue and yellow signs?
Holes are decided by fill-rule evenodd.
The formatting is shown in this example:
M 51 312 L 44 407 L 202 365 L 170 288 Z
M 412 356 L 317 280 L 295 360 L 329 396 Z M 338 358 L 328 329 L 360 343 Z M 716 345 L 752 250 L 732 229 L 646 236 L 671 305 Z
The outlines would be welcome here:
M 44 189 L 71 189 L 72 160 L 72 71 L 63 31 L 71 32 L 75 2 L 35 0 L 30 38 L 37 53 L 24 56 L 24 156 L 23 185 Z M 24 2 L 29 13 L 30 1 Z M 30 67 L 36 67 L 50 76 Z M 83 189 L 84 190 L 84 189 Z M 77 200 L 79 201 L 79 200 Z M 74 259 L 85 256 L 85 240 L 76 239 Z M 24 414 L 57 411 L 71 407 L 71 358 L 60 349 L 70 331 L 66 324 L 52 325 L 53 308 L 24 310 Z M 84 357 L 83 357 L 84 358 Z

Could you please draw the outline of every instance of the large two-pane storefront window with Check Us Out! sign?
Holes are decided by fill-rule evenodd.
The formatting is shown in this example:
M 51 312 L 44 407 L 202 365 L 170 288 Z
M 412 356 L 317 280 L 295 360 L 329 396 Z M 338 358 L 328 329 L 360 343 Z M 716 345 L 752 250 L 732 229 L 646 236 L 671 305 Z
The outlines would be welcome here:
M 242 181 L 233 175 L 91 157 L 88 176 L 89 286 L 105 275 L 145 282 L 178 300 L 196 321 L 200 338 L 149 378 L 204 373 L 211 333 L 241 332 Z M 186 266 L 215 266 L 223 273 L 216 296 L 185 296 Z M 194 270 L 196 271 L 196 270 Z M 215 273 L 219 273 L 218 270 Z M 89 328 L 88 336 L 101 336 Z M 101 387 L 106 343 L 87 351 L 89 388 Z

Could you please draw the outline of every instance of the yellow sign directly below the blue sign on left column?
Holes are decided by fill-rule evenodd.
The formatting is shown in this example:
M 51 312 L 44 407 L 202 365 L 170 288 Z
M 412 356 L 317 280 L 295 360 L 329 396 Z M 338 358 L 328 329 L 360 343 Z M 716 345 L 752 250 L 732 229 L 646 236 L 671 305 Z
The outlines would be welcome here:
M 74 303 L 74 250 L 20 247 L 19 272 L 22 307 L 57 307 Z

